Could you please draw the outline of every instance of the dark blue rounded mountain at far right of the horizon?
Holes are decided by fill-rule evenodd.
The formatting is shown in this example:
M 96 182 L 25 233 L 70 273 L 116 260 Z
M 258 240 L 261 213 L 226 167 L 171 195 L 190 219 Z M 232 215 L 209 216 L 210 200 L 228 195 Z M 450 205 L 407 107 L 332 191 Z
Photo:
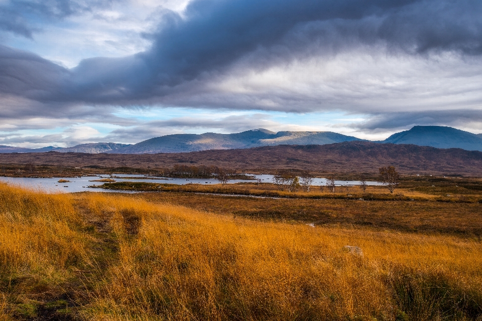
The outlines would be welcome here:
M 410 130 L 395 133 L 382 142 L 482 150 L 482 134 L 473 134 L 446 126 L 414 126 Z

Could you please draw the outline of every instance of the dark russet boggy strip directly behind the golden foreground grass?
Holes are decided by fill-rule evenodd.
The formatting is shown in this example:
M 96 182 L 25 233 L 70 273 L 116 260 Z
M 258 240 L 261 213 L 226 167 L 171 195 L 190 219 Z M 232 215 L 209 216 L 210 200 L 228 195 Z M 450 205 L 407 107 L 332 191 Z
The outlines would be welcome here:
M 482 204 L 434 201 L 360 201 L 347 199 L 273 199 L 146 193 L 143 199 L 258 220 L 314 225 L 372 226 L 410 232 L 482 237 Z

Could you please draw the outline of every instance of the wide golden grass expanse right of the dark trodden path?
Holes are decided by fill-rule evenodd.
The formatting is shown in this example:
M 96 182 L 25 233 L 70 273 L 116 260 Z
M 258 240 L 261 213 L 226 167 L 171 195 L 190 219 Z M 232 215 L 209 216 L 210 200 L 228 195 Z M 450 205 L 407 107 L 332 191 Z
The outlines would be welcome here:
M 254 222 L 127 197 L 90 202 L 110 208 L 119 238 L 93 318 L 480 319 L 480 242 Z

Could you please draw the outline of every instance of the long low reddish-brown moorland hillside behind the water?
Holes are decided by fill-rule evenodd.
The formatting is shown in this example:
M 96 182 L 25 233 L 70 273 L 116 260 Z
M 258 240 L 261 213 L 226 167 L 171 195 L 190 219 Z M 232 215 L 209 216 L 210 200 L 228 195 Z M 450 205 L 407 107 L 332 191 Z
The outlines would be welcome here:
M 403 174 L 468 175 L 482 177 L 482 152 L 408 144 L 348 141 L 325 145 L 278 145 L 249 149 L 204 150 L 189 153 L 0 154 L 2 164 L 50 164 L 103 168 L 167 168 L 176 164 L 214 165 L 238 170 L 303 169 L 322 173 L 377 173 L 396 166 Z

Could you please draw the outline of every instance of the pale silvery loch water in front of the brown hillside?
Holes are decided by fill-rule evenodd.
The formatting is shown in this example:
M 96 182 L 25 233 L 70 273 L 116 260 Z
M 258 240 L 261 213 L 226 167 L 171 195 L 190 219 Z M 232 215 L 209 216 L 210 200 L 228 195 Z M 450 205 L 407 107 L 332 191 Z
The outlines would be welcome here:
M 179 178 L 154 178 L 139 174 L 112 174 L 116 182 L 146 182 L 146 183 L 168 183 L 168 184 L 219 184 L 217 180 L 214 179 L 179 179 Z M 252 175 L 256 180 L 261 180 L 262 183 L 272 183 L 273 175 Z M 35 189 L 40 189 L 48 193 L 74 193 L 74 192 L 112 192 L 112 190 L 104 190 L 98 188 L 89 188 L 88 186 L 102 185 L 104 182 L 89 182 L 92 180 L 100 180 L 103 178 L 110 178 L 110 175 L 99 175 L 99 176 L 83 176 L 83 177 L 64 177 L 64 178 L 27 178 L 27 177 L 0 177 L 0 182 L 7 182 L 15 185 L 21 185 L 25 187 L 31 187 Z M 58 183 L 59 180 L 70 181 L 68 183 Z M 235 183 L 254 183 L 253 180 L 231 180 L 228 184 Z M 358 181 L 335 181 L 336 186 L 342 185 L 359 185 Z M 313 179 L 313 185 L 326 185 L 326 179 Z M 367 182 L 367 185 L 380 185 L 378 182 Z M 131 192 L 132 193 L 132 192 Z

